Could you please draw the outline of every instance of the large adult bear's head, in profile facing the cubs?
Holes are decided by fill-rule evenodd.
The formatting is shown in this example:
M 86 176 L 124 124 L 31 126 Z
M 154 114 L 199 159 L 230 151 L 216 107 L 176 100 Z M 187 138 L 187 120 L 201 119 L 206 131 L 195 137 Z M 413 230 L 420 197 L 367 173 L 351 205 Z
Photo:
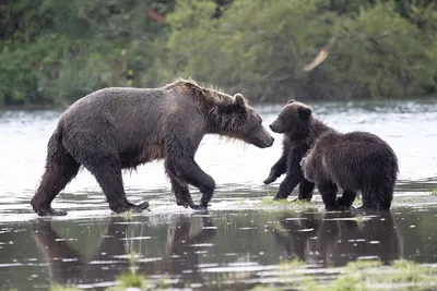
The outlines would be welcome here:
M 235 94 L 231 104 L 216 105 L 210 113 L 214 117 L 218 134 L 260 148 L 273 145 L 274 138 L 262 125 L 262 118 L 241 94 Z

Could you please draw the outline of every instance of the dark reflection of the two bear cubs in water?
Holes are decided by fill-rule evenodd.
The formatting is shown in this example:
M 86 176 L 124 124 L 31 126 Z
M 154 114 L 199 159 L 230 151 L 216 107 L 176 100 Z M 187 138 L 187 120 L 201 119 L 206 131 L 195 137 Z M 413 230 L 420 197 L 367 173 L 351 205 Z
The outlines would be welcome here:
M 359 219 L 352 213 L 284 216 L 272 235 L 288 259 L 298 258 L 324 267 L 341 267 L 358 257 L 379 258 L 389 264 L 400 258 L 400 238 L 389 210 Z

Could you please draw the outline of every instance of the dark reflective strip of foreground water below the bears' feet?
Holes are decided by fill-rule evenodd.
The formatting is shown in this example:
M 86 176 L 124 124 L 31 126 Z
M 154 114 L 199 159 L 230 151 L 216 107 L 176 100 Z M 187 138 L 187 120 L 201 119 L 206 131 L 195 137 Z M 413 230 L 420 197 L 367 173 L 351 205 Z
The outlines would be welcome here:
M 363 256 L 436 263 L 436 217 L 435 207 L 366 217 L 282 208 L 0 223 L 0 289 L 103 289 L 129 270 L 131 253 L 147 282 L 200 290 L 281 284 L 284 258 L 310 269 Z

